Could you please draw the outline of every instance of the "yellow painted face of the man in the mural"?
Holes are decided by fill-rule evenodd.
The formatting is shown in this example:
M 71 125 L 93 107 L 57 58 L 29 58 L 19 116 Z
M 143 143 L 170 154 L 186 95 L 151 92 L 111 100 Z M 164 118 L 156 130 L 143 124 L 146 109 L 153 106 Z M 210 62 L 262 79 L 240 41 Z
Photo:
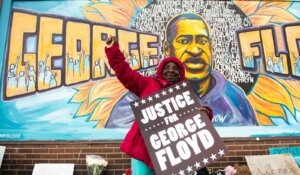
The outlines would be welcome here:
M 170 43 L 171 54 L 186 68 L 186 78 L 202 80 L 211 73 L 211 43 L 206 25 L 200 20 L 184 19 L 177 23 Z

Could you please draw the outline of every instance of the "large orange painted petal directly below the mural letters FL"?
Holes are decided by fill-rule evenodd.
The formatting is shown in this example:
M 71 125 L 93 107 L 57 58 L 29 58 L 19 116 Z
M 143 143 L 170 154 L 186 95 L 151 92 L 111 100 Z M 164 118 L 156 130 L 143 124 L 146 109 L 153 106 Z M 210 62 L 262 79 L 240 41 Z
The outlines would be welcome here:
M 295 115 L 294 105 L 289 93 L 277 80 L 261 75 L 253 88 L 253 92 L 263 100 L 285 105 Z

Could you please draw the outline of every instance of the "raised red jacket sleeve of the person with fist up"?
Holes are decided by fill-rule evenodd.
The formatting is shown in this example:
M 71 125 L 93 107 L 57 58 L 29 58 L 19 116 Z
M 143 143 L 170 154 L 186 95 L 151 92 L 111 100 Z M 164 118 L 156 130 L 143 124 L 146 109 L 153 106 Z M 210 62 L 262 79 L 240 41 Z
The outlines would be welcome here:
M 108 63 L 115 71 L 119 81 L 131 92 L 140 97 L 142 86 L 145 85 L 146 77 L 140 75 L 137 71 L 132 70 L 125 61 L 123 53 L 119 49 L 119 45 L 115 44 L 111 48 L 105 47 L 105 53 Z M 143 83 L 142 83 L 143 82 Z

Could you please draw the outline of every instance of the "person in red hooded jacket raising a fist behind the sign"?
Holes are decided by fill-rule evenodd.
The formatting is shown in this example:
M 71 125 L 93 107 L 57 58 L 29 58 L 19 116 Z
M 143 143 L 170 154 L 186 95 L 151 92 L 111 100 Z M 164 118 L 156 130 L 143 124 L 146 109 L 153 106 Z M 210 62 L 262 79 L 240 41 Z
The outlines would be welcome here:
M 139 98 L 153 94 L 185 79 L 184 65 L 176 57 L 163 59 L 157 68 L 156 78 L 146 77 L 130 68 L 119 49 L 119 44 L 115 37 L 109 36 L 106 44 L 105 53 L 108 63 L 115 71 L 118 80 Z M 213 115 L 210 108 L 202 107 L 199 110 L 205 111 L 210 119 L 212 118 Z M 154 174 L 152 161 L 136 121 L 133 122 L 120 149 L 133 158 L 132 174 Z M 145 172 L 147 168 L 148 172 Z

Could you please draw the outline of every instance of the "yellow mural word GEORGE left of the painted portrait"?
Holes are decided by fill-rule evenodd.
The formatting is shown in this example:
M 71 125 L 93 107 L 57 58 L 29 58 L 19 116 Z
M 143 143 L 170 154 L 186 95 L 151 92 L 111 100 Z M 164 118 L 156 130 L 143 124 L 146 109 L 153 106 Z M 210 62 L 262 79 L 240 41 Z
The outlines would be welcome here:
M 104 52 L 109 35 L 117 36 L 133 69 L 158 65 L 157 35 L 14 10 L 4 98 L 113 76 Z

